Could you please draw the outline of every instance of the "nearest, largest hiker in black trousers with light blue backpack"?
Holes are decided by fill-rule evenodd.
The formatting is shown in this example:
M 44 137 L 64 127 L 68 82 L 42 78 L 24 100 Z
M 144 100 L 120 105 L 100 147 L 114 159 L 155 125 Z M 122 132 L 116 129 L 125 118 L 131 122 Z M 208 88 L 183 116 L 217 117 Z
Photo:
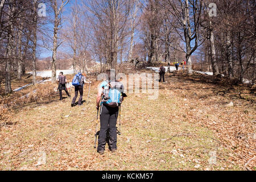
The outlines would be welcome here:
M 123 101 L 123 84 L 115 80 L 115 73 L 106 70 L 108 80 L 102 81 L 96 98 L 97 110 L 100 109 L 100 133 L 98 134 L 97 152 L 104 154 L 106 143 L 109 150 L 117 150 L 117 117 Z

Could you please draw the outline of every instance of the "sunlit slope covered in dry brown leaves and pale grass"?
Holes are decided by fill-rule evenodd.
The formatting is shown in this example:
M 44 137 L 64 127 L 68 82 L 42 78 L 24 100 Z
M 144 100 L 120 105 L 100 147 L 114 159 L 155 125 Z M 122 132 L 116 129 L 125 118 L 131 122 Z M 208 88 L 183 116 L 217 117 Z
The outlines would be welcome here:
M 158 100 L 128 94 L 115 153 L 93 148 L 97 84 L 81 107 L 58 94 L 19 107 L 16 125 L 1 127 L 0 169 L 255 170 L 255 94 L 182 73 L 166 80 Z

